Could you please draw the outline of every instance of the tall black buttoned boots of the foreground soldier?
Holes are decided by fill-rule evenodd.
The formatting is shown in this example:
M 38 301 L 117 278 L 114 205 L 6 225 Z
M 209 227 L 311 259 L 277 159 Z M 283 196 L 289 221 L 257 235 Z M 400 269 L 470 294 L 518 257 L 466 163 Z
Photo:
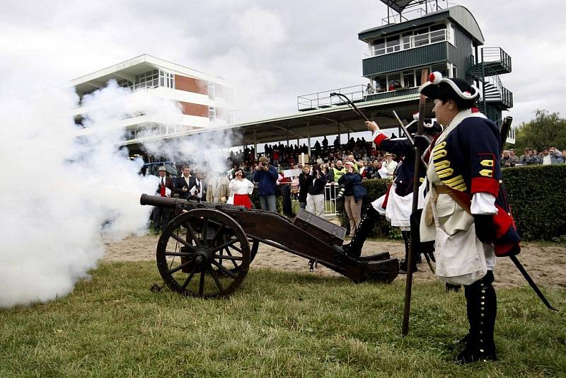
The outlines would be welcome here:
M 466 348 L 456 357 L 456 362 L 497 360 L 493 340 L 497 299 L 492 282 L 493 272 L 488 270 L 481 280 L 464 287 L 470 333 L 466 338 Z

